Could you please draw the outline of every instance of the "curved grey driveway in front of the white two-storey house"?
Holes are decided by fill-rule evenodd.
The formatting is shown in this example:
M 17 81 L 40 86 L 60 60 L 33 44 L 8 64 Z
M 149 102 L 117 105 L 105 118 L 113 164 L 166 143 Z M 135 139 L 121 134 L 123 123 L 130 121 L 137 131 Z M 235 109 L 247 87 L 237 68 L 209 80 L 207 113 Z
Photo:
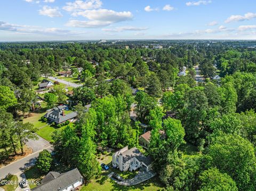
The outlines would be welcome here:
M 115 180 L 118 185 L 133 186 L 133 185 L 138 185 L 141 182 L 146 181 L 154 176 L 156 176 L 156 173 L 152 170 L 149 170 L 149 171 L 139 171 L 138 175 L 136 175 L 132 179 L 123 179 L 121 181 L 117 181 L 114 178 L 112 179 Z

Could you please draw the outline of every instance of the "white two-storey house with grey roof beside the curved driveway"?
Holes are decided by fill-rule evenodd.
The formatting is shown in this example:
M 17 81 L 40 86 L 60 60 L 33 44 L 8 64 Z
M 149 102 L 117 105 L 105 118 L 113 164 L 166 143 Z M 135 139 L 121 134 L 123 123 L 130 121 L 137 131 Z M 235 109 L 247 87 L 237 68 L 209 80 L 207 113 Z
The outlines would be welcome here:
M 112 165 L 121 171 L 133 171 L 139 168 L 150 170 L 153 160 L 151 156 L 144 156 L 136 147 L 128 149 L 128 146 L 117 151 L 112 156 Z

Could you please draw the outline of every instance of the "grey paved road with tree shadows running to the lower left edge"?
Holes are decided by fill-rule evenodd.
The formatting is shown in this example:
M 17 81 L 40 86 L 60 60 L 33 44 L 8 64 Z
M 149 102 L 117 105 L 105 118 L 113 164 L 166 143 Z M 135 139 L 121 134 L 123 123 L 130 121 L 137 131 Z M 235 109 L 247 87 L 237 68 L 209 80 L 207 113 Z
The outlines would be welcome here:
M 52 150 L 51 146 L 46 147 L 48 151 Z M 18 161 L 15 161 L 11 164 L 6 165 L 5 167 L 2 167 L 0 169 L 0 179 L 4 178 L 8 173 L 12 173 L 13 175 L 23 172 L 28 167 L 31 167 L 31 165 L 35 164 L 36 157 L 39 155 L 39 153 L 43 150 L 36 151 L 35 153 L 32 153 Z

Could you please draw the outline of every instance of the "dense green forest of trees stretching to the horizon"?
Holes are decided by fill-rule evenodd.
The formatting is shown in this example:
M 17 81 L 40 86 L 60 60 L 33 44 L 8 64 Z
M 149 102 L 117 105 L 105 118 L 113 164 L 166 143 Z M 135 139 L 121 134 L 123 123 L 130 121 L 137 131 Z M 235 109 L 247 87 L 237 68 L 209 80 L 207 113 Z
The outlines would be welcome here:
M 256 190 L 254 46 L 206 40 L 0 43 L 1 159 L 35 138 L 37 129 L 22 117 L 42 78 L 83 68 L 83 86 L 70 97 L 79 120 L 55 131 L 53 146 L 59 160 L 86 180 L 99 175 L 98 146 L 139 148 L 143 123 L 151 130 L 145 154 L 167 190 Z M 178 76 L 183 67 L 186 76 Z M 58 86 L 44 98 L 49 108 L 66 102 Z M 188 144 L 198 152 L 187 154 L 182 148 Z

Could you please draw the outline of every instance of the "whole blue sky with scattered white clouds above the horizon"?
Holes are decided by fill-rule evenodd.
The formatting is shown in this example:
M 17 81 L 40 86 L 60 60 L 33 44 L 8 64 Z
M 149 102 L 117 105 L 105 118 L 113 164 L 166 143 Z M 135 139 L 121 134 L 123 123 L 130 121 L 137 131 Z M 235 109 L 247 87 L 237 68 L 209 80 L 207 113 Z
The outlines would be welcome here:
M 1 0 L 0 40 L 256 39 L 255 0 Z

